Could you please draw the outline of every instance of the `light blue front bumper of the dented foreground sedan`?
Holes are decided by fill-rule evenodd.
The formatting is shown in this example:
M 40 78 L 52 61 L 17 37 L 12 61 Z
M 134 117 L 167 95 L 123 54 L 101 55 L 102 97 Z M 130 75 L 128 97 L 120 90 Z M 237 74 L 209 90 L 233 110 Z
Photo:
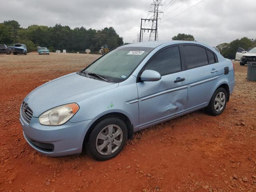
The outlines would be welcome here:
M 82 152 L 83 141 L 92 120 L 66 122 L 61 126 L 44 126 L 38 118 L 32 117 L 30 123 L 21 115 L 20 123 L 28 144 L 46 156 L 66 156 Z M 52 148 L 50 148 L 52 146 Z

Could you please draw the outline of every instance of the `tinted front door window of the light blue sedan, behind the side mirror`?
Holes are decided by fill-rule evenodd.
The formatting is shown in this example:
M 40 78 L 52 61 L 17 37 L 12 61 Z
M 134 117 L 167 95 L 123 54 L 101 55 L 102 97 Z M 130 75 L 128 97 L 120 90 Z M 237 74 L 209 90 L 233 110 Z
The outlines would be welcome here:
M 180 50 L 173 46 L 160 51 L 148 63 L 145 70 L 154 70 L 161 75 L 170 74 L 181 70 Z

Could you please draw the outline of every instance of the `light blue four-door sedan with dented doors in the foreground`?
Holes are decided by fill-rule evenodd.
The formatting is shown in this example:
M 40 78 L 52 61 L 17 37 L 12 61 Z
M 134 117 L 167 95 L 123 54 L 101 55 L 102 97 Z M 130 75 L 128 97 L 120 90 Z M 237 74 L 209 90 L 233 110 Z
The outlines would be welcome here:
M 234 83 L 232 62 L 205 44 L 128 44 L 30 92 L 20 122 L 28 144 L 42 154 L 87 149 L 108 160 L 134 132 L 201 108 L 220 115 Z

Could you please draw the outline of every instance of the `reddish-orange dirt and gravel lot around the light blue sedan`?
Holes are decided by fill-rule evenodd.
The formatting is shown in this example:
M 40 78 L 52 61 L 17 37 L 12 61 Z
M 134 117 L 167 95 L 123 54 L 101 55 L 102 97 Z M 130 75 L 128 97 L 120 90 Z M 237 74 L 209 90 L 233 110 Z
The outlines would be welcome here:
M 226 110 L 200 110 L 134 135 L 122 154 L 50 158 L 24 140 L 19 108 L 45 82 L 78 71 L 98 55 L 0 55 L 0 192 L 256 191 L 256 82 L 234 63 L 236 87 Z

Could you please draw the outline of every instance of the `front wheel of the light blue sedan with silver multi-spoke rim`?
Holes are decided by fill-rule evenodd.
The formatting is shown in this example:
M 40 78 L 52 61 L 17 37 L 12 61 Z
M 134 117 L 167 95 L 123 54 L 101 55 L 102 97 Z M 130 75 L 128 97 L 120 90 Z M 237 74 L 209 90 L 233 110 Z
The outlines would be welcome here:
M 108 133 L 109 129 L 112 130 L 111 134 Z M 109 160 L 122 151 L 127 142 L 127 135 L 127 127 L 122 120 L 116 117 L 106 118 L 90 133 L 87 151 L 96 160 Z

